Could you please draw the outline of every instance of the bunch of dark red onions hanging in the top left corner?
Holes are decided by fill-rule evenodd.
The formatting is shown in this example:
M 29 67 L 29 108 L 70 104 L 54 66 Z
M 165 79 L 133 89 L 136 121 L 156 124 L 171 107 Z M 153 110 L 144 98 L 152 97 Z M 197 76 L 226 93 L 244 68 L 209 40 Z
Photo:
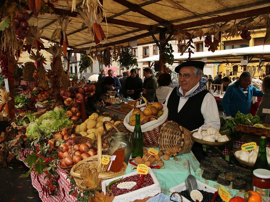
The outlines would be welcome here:
M 27 22 L 27 19 L 29 18 L 29 13 L 27 12 L 18 12 L 16 17 L 14 18 L 13 24 L 14 24 L 14 34 L 18 39 L 24 40 L 25 37 L 28 35 L 29 30 L 29 24 Z

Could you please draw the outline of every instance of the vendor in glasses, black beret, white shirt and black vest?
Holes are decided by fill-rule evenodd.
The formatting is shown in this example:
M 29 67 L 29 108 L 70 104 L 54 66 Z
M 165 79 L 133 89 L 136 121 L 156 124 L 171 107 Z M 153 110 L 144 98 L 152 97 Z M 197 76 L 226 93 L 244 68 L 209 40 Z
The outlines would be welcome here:
M 165 104 L 168 107 L 168 120 L 178 122 L 190 131 L 205 130 L 209 126 L 220 128 L 219 113 L 214 96 L 201 82 L 202 61 L 187 61 L 175 68 L 179 74 L 179 86 L 167 96 Z M 200 162 L 207 156 L 202 151 L 202 145 L 194 143 L 191 151 Z

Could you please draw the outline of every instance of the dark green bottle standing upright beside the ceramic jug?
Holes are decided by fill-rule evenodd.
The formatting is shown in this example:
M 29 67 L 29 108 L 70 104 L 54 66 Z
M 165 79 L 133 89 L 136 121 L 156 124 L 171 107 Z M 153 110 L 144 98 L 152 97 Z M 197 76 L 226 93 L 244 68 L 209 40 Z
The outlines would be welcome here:
M 136 114 L 135 128 L 131 141 L 131 157 L 143 157 L 143 133 L 140 124 L 140 114 Z

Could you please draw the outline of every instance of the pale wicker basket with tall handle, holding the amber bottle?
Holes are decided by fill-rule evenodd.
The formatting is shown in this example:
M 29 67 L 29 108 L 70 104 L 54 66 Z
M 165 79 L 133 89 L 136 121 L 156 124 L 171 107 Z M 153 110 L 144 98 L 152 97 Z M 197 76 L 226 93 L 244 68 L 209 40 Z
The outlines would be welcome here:
M 76 185 L 78 187 L 78 189 L 80 191 L 84 191 L 86 190 L 85 186 L 81 186 L 81 183 L 83 182 L 83 179 L 81 178 L 81 173 L 82 170 L 85 169 L 89 169 L 89 167 L 91 166 L 92 168 L 97 168 L 97 171 L 99 173 L 98 178 L 101 180 L 106 180 L 106 179 L 110 179 L 113 177 L 118 177 L 121 175 L 125 174 L 125 171 L 127 169 L 127 164 L 125 162 L 123 162 L 121 170 L 117 173 L 113 173 L 113 172 L 106 172 L 106 167 L 107 166 L 101 166 L 101 159 L 102 156 L 107 156 L 107 157 L 111 157 L 109 155 L 102 155 L 102 151 L 101 151 L 101 134 L 98 134 L 98 155 L 95 156 L 91 156 L 88 157 L 82 161 L 79 161 L 78 163 L 76 163 L 75 165 L 73 165 L 73 167 L 70 170 L 70 174 L 71 176 L 74 178 Z

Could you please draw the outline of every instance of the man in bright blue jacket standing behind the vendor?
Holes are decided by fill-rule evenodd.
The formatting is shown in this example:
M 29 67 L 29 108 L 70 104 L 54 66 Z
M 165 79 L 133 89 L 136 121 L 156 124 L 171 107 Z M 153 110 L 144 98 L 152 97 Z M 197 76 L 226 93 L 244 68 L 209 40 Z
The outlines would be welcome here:
M 261 90 L 250 85 L 252 75 L 250 72 L 244 71 L 239 80 L 228 86 L 221 101 L 226 117 L 235 117 L 235 114 L 240 111 L 243 114 L 248 114 L 251 105 L 252 96 L 262 97 Z

